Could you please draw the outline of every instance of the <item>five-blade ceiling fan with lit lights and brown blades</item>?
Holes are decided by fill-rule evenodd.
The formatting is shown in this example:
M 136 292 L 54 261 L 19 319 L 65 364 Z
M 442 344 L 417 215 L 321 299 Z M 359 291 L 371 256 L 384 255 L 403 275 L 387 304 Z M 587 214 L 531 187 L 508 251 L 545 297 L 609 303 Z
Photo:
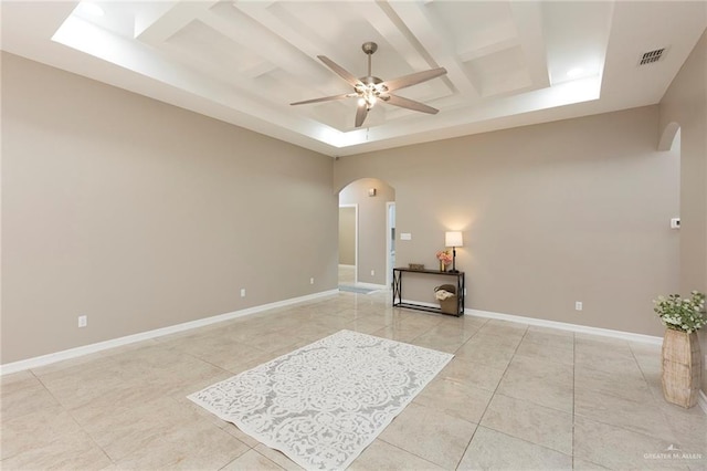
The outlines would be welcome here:
M 325 96 L 323 98 L 306 100 L 304 102 L 291 103 L 291 105 L 306 105 L 309 103 L 330 102 L 334 100 L 358 98 L 358 107 L 356 109 L 356 127 L 361 127 L 368 112 L 376 105 L 379 100 L 390 105 L 400 106 L 402 108 L 413 109 L 415 112 L 436 114 L 439 109 L 428 106 L 424 103 L 414 100 L 403 98 L 391 94 L 395 90 L 407 86 L 416 85 L 422 82 L 439 77 L 446 74 L 446 69 L 437 67 L 429 71 L 415 72 L 414 74 L 403 75 L 398 78 L 383 81 L 371 74 L 371 55 L 378 50 L 374 42 L 365 42 L 361 45 L 363 52 L 368 55 L 368 75 L 357 78 L 352 73 L 338 65 L 336 62 L 325 55 L 317 55 L 329 69 L 331 69 L 341 78 L 347 81 L 352 87 L 354 93 L 345 93 L 341 95 Z

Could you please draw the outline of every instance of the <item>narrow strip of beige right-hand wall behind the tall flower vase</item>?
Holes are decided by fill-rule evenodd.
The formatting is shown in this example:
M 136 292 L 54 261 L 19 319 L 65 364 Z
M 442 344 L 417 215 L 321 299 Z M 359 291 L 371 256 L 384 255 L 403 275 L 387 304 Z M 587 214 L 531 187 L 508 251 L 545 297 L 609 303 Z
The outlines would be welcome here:
M 707 31 L 661 101 L 659 132 L 671 124 L 680 129 L 680 292 L 707 293 Z M 699 337 L 707 354 L 705 329 Z M 707 394 L 705 368 L 707 362 Z

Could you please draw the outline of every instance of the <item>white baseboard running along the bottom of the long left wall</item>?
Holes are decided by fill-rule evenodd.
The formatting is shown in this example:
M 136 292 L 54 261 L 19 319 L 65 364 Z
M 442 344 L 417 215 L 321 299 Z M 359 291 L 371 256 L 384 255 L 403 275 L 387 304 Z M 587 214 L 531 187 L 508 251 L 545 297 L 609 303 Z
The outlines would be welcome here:
M 292 304 L 316 300 L 319 297 L 330 296 L 338 293 L 339 293 L 339 290 L 324 291 L 320 293 L 308 294 L 306 296 L 293 297 L 289 300 L 277 301 L 274 303 L 249 307 L 241 311 L 234 311 L 231 313 L 219 314 L 211 317 L 204 317 L 197 321 L 184 322 L 182 324 L 170 325 L 169 327 L 157 328 L 148 332 L 140 332 L 139 334 L 127 335 L 125 337 L 113 338 L 105 342 L 98 342 L 96 344 L 84 345 L 76 348 L 70 348 L 67 350 L 56 352 L 49 355 L 42 355 L 34 358 L 28 358 L 20 362 L 8 363 L 4 365 L 0 365 L 0 376 L 8 375 L 10 373 L 22 371 L 30 368 L 36 368 L 40 366 L 51 365 L 52 363 L 62 362 L 64 359 L 76 358 L 76 357 L 88 355 L 92 353 L 102 352 L 108 348 L 119 347 L 122 345 L 128 345 L 136 342 L 148 341 L 150 338 L 161 337 L 163 335 L 169 335 L 169 334 L 176 334 L 178 332 L 189 331 L 191 328 L 203 327 L 205 325 L 215 324 L 218 322 L 223 322 L 223 321 L 230 321 L 236 317 L 243 317 L 246 315 L 260 313 L 260 312 L 272 310 L 275 307 L 283 307 Z

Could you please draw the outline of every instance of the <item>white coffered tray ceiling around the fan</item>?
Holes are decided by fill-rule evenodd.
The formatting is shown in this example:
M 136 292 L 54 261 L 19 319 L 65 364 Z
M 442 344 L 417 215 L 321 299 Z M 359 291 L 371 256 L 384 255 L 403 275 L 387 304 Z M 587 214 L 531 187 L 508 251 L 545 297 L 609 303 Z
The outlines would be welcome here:
M 2 1 L 2 50 L 330 156 L 657 103 L 707 27 L 703 1 Z M 356 100 L 367 75 L 447 74 Z M 643 53 L 663 57 L 639 65 Z M 568 72 L 581 67 L 576 76 Z

